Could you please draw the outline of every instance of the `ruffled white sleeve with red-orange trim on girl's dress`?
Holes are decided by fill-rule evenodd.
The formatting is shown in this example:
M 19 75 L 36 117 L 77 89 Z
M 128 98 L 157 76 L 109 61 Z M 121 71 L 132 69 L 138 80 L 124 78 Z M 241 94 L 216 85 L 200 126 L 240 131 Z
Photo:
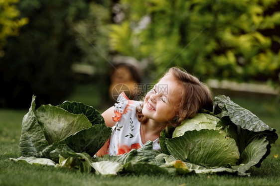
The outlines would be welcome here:
M 114 109 L 115 115 L 112 117 L 113 121 L 119 121 L 121 119 L 128 106 L 129 98 L 124 92 L 122 92 L 117 98 L 117 102 L 118 103 L 115 103 Z

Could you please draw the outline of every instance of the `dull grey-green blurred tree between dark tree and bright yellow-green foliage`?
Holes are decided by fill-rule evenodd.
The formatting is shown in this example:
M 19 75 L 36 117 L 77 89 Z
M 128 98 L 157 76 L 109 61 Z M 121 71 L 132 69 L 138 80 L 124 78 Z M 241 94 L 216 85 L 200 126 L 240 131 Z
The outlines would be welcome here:
M 93 67 L 91 78 L 84 81 L 99 87 L 99 96 L 105 99 L 108 98 L 109 69 L 113 65 L 108 42 L 108 27 L 112 23 L 110 7 L 110 0 L 103 0 L 102 3 L 91 1 L 87 16 L 71 22 L 71 35 L 75 37 L 81 52 L 76 63 Z

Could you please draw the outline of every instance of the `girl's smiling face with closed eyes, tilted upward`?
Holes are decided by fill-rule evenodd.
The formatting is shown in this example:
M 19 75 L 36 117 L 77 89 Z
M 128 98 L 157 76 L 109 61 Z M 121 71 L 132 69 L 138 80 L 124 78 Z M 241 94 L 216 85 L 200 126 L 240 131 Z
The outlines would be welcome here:
M 165 75 L 144 99 L 142 113 L 156 122 L 167 123 L 177 114 L 180 103 L 180 87 L 171 74 Z

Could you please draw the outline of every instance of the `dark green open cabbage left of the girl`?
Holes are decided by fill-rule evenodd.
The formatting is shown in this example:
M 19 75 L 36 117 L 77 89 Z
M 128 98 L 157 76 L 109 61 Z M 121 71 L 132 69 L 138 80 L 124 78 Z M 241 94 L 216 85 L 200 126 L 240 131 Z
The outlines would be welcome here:
M 48 158 L 58 162 L 62 149 L 87 153 L 90 157 L 110 138 L 112 129 L 91 106 L 65 101 L 61 105 L 31 106 L 24 115 L 19 141 L 20 160 L 24 157 Z

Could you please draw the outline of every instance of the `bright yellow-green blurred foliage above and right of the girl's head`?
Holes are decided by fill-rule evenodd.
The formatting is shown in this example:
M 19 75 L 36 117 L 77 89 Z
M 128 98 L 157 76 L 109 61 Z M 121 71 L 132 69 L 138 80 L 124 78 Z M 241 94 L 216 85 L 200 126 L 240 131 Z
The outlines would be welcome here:
M 280 0 L 120 0 L 110 46 L 201 79 L 280 81 Z

